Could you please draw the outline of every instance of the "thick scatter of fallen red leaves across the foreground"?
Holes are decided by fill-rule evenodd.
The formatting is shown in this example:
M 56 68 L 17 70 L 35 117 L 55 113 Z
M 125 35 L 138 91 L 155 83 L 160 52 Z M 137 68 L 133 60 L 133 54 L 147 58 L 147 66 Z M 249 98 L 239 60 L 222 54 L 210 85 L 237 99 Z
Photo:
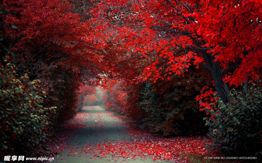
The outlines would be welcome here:
M 141 134 L 141 131 L 139 132 Z M 147 135 L 148 136 L 148 135 Z M 86 154 L 92 152 L 99 156 L 113 155 L 114 158 L 129 158 L 132 160 L 143 159 L 149 156 L 152 160 L 173 160 L 179 161 L 182 153 L 207 155 L 210 151 L 205 150 L 206 143 L 202 142 L 203 137 L 189 137 L 189 138 L 171 138 L 162 139 L 151 137 L 141 137 L 139 135 L 135 140 L 128 140 L 122 138 L 121 142 L 106 141 L 102 144 L 86 144 L 80 151 Z M 93 147 L 93 148 L 92 148 Z M 86 149 L 85 149 L 86 148 Z M 72 152 L 74 149 L 72 150 Z M 93 155 L 95 157 L 95 154 Z

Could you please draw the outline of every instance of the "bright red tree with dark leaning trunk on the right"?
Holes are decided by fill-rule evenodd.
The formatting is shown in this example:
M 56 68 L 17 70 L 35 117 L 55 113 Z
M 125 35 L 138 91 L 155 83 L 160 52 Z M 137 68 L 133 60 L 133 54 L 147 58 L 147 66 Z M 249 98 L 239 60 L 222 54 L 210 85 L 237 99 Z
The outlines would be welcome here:
M 238 84 L 261 68 L 260 1 L 98 1 L 92 11 L 104 47 L 122 43 L 130 55 L 153 57 L 138 82 L 181 75 L 194 64 L 209 70 L 217 95 L 228 102 L 225 81 Z M 106 38 L 106 39 L 104 39 Z M 159 64 L 160 60 L 168 63 Z M 233 70 L 234 69 L 234 70 Z

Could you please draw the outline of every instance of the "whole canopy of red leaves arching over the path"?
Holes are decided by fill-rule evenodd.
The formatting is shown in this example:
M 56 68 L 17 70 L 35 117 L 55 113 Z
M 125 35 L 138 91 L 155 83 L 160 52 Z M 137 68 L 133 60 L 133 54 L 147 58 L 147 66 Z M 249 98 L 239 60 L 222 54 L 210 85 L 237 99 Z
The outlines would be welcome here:
M 54 122 L 72 118 L 83 101 L 94 104 L 92 86 L 108 88 L 106 105 L 112 110 L 141 118 L 141 108 L 134 107 L 138 83 L 154 87 L 202 66 L 210 71 L 215 89 L 204 87 L 196 100 L 211 109 L 214 93 L 229 102 L 228 85 L 261 77 L 262 1 L 0 2 L 7 11 L 3 36 L 12 44 L 17 76 L 29 71 L 30 80 L 41 80 L 44 107 L 57 106 Z M 11 53 L 5 50 L 0 57 Z M 173 148 L 181 150 L 180 145 Z

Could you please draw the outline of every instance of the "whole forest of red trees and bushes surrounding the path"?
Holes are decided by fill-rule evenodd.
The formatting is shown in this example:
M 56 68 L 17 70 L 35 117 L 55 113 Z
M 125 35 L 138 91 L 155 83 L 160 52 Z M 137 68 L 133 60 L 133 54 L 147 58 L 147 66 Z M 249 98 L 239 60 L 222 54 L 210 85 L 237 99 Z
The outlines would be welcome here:
M 52 155 L 47 142 L 84 105 L 261 158 L 261 0 L 0 4 L 0 161 Z

